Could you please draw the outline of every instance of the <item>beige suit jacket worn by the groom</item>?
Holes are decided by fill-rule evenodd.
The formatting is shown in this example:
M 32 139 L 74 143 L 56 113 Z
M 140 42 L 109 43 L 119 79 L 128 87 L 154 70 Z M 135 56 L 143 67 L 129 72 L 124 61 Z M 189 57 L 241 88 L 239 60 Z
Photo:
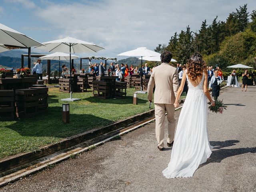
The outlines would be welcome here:
M 178 70 L 167 63 L 155 67 L 148 82 L 148 100 L 156 104 L 174 104 L 179 88 Z

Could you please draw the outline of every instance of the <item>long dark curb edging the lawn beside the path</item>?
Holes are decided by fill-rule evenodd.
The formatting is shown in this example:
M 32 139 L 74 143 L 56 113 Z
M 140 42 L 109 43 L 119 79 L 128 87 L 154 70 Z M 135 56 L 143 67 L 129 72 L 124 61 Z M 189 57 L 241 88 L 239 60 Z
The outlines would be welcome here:
M 69 138 L 65 138 L 56 144 L 46 145 L 34 152 L 16 154 L 14 156 L 3 158 L 0 160 L 0 173 L 5 172 L 10 169 L 13 169 L 13 168 L 16 168 L 16 167 L 26 164 L 28 162 L 32 162 L 33 160 L 36 160 L 43 156 L 47 156 L 54 152 L 57 152 L 57 151 L 60 151 L 60 150 L 66 149 L 66 148 L 70 148 L 71 146 L 77 145 L 86 140 L 90 140 L 92 138 L 95 138 L 95 137 L 105 134 L 107 132 L 116 130 L 121 127 L 128 126 L 131 123 L 134 123 L 136 121 L 139 121 L 139 120 L 142 120 L 144 118 L 154 115 L 154 111 L 155 110 L 152 109 L 152 110 L 149 110 L 148 112 L 140 113 L 140 114 L 131 116 L 129 118 L 126 118 L 125 120 L 120 120 L 120 121 L 114 122 L 108 126 L 105 126 L 102 128 L 95 128 L 95 129 L 86 131 L 84 133 L 77 134 L 77 135 L 71 136 Z

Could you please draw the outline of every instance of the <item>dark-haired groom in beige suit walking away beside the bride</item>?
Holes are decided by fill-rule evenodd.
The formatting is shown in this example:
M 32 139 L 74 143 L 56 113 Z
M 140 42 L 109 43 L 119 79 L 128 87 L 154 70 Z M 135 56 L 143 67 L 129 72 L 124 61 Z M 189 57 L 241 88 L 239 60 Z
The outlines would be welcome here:
M 173 104 L 179 88 L 179 81 L 178 69 L 169 65 L 172 53 L 164 51 L 160 58 L 162 64 L 154 68 L 148 82 L 148 100 L 152 102 L 153 88 L 156 86 L 154 93 L 156 140 L 158 142 L 158 149 L 162 151 L 164 150 L 164 118 L 166 112 L 168 120 L 167 146 L 171 147 L 173 145 L 176 125 Z

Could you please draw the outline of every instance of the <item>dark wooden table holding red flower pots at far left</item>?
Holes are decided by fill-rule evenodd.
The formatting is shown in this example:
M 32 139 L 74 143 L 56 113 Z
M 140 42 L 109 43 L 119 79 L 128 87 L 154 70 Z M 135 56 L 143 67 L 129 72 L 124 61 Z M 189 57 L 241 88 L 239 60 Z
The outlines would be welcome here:
M 37 78 L 0 78 L 0 90 L 26 89 L 36 84 Z

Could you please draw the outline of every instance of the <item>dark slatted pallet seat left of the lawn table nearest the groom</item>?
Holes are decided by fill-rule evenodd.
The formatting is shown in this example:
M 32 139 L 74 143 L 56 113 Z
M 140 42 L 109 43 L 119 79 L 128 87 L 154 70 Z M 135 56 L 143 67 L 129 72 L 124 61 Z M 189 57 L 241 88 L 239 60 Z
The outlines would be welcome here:
M 104 81 L 93 81 L 93 96 L 101 99 L 111 98 L 111 84 Z M 96 92 L 96 93 L 95 93 Z

